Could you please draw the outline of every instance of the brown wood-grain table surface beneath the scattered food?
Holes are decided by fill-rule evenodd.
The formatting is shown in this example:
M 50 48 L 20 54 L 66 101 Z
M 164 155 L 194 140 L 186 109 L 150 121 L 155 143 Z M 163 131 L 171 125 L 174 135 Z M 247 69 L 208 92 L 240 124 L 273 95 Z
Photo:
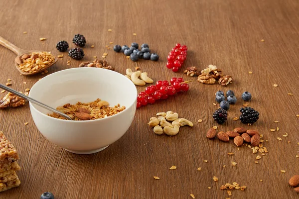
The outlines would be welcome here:
M 0 198 L 38 199 L 43 192 L 52 192 L 55 199 L 188 199 L 190 194 L 196 199 L 299 198 L 288 185 L 288 180 L 299 174 L 298 10 L 298 0 L 0 0 L 2 37 L 24 49 L 64 55 L 49 74 L 78 67 L 81 61 L 70 59 L 66 52 L 59 53 L 55 44 L 67 40 L 74 47 L 72 38 L 80 33 L 87 39 L 83 61 L 107 52 L 108 63 L 122 74 L 127 68 L 139 66 L 154 81 L 171 77 L 196 80 L 183 74 L 183 69 L 203 69 L 213 64 L 233 77 L 233 84 L 227 87 L 191 82 L 187 93 L 138 109 L 128 132 L 92 155 L 72 154 L 47 141 L 35 127 L 28 103 L 0 110 L 0 130 L 17 148 L 21 166 L 20 187 L 0 193 Z M 46 40 L 40 41 L 41 37 Z M 148 43 L 160 56 L 159 61 L 132 62 L 112 49 L 115 44 L 130 45 L 134 41 Z M 177 42 L 188 46 L 188 56 L 179 73 L 173 73 L 165 64 Z M 0 47 L 0 83 L 10 78 L 10 87 L 24 92 L 45 75 L 20 76 L 14 57 Z M 71 65 L 67 65 L 68 60 Z M 138 91 L 144 88 L 138 87 Z M 214 94 L 229 89 L 235 91 L 238 101 L 231 105 L 227 122 L 217 125 L 212 118 L 218 107 L 213 105 Z M 223 131 L 248 128 L 240 120 L 233 120 L 240 114 L 245 91 L 253 95 L 250 106 L 260 112 L 260 119 L 250 128 L 268 140 L 264 146 L 269 153 L 258 164 L 258 154 L 248 147 L 238 150 L 232 140 L 224 143 L 205 137 L 215 125 Z M 155 135 L 147 125 L 149 118 L 168 110 L 191 120 L 194 127 L 182 127 L 173 137 Z M 203 121 L 199 123 L 198 119 Z M 25 126 L 24 122 L 29 124 Z M 277 127 L 279 131 L 270 131 Z M 288 137 L 283 137 L 286 132 Z M 235 155 L 227 155 L 229 152 Z M 232 161 L 236 167 L 231 166 Z M 172 165 L 177 169 L 169 170 Z M 214 182 L 213 176 L 219 181 Z M 233 182 L 247 186 L 246 191 L 233 190 L 228 197 L 220 190 L 221 185 Z

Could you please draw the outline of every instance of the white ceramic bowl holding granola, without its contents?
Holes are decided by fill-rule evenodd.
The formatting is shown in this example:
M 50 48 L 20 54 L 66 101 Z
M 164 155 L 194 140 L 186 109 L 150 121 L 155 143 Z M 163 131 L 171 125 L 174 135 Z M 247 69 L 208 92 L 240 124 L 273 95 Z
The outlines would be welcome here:
M 137 102 L 135 85 L 124 75 L 100 68 L 73 68 L 39 80 L 29 97 L 53 108 L 66 103 L 91 102 L 100 98 L 126 109 L 113 116 L 88 121 L 50 117 L 50 111 L 29 103 L 38 130 L 52 143 L 77 154 L 99 152 L 122 137 L 130 127 Z

